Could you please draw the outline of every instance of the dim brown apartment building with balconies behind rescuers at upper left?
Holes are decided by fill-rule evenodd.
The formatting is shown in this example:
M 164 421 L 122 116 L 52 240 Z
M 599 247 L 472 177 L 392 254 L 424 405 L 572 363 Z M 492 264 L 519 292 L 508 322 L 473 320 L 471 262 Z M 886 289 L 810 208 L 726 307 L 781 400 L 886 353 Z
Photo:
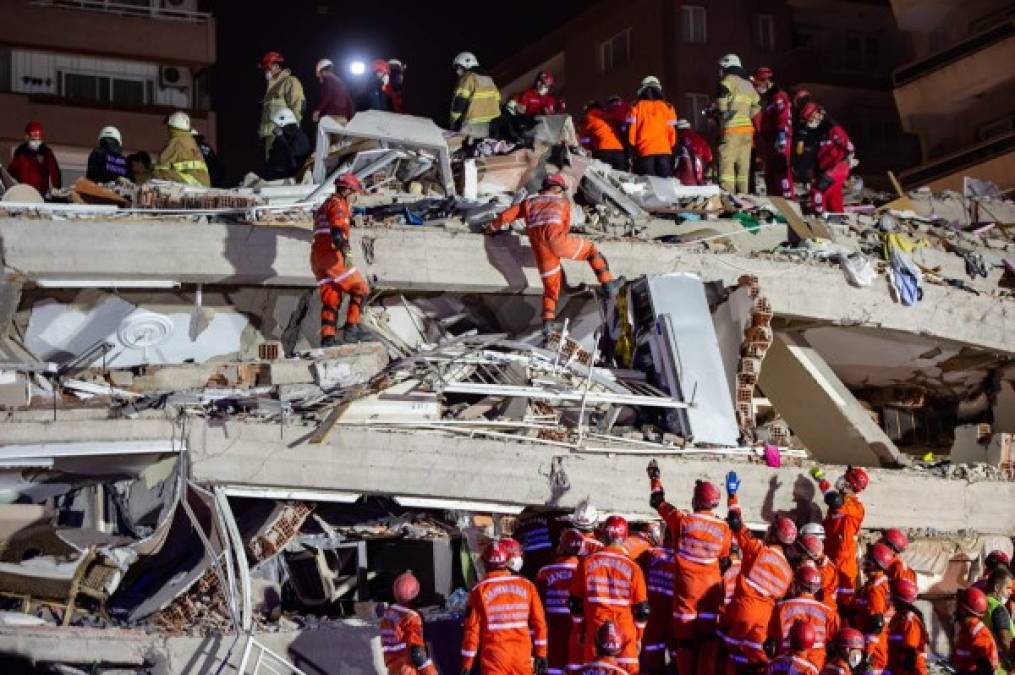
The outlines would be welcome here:
M 0 21 L 0 158 L 37 120 L 64 182 L 85 171 L 99 129 L 129 152 L 156 152 L 165 116 L 191 115 L 214 143 L 208 89 L 215 25 L 198 0 L 4 0 Z

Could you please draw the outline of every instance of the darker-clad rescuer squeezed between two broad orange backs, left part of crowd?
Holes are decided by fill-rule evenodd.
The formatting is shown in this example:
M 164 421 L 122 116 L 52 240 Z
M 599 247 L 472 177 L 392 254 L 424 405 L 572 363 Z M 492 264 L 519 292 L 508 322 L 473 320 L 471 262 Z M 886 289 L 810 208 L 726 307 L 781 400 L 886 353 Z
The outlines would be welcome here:
M 543 600 L 546 611 L 546 625 L 549 633 L 548 675 L 564 675 L 577 670 L 581 662 L 571 662 L 568 655 L 578 654 L 578 646 L 571 645 L 573 631 L 568 600 L 571 579 L 578 569 L 578 554 L 582 552 L 583 537 L 578 530 L 564 530 L 557 542 L 557 558 L 536 573 L 536 588 Z

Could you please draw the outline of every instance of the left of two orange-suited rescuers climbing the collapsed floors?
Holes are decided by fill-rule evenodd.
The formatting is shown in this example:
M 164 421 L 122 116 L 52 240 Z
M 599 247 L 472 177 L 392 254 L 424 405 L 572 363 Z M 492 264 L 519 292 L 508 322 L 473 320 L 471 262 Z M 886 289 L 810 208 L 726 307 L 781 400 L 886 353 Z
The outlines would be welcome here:
M 345 323 L 359 323 L 363 298 L 369 292 L 365 279 L 349 261 L 349 202 L 332 195 L 314 214 L 311 269 L 321 292 L 321 337 L 335 337 L 342 293 L 349 294 Z

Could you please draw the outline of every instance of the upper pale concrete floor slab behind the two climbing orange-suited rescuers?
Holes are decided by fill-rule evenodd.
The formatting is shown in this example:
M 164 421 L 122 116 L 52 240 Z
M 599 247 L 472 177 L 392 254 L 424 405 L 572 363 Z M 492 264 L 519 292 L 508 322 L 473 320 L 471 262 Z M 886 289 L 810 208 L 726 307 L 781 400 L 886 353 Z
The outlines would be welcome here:
M 0 219 L 9 277 L 28 280 L 130 280 L 314 286 L 311 233 L 292 227 L 192 222 Z M 750 237 L 750 234 L 746 234 Z M 369 228 L 353 234 L 355 264 L 375 287 L 439 292 L 540 292 L 528 240 L 436 228 Z M 52 242 L 73 242 L 54 256 Z M 706 280 L 760 279 L 776 315 L 808 322 L 867 326 L 1015 353 L 1015 303 L 925 285 L 924 300 L 902 308 L 884 278 L 850 286 L 826 265 L 692 253 L 679 246 L 604 241 L 611 269 L 635 276 L 695 272 Z M 587 265 L 565 263 L 570 284 L 594 283 Z

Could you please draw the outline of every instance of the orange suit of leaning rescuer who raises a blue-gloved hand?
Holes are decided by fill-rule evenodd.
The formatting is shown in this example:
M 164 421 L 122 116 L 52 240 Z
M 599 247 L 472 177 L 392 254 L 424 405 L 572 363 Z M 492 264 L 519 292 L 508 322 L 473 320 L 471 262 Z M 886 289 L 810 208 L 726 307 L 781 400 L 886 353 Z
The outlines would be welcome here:
M 731 498 L 731 504 L 735 503 Z M 731 664 L 743 667 L 767 661 L 762 644 L 768 634 L 768 621 L 775 603 L 790 590 L 793 568 L 780 546 L 756 539 L 746 527 L 737 533 L 737 541 L 743 567 L 719 635 L 726 643 Z

